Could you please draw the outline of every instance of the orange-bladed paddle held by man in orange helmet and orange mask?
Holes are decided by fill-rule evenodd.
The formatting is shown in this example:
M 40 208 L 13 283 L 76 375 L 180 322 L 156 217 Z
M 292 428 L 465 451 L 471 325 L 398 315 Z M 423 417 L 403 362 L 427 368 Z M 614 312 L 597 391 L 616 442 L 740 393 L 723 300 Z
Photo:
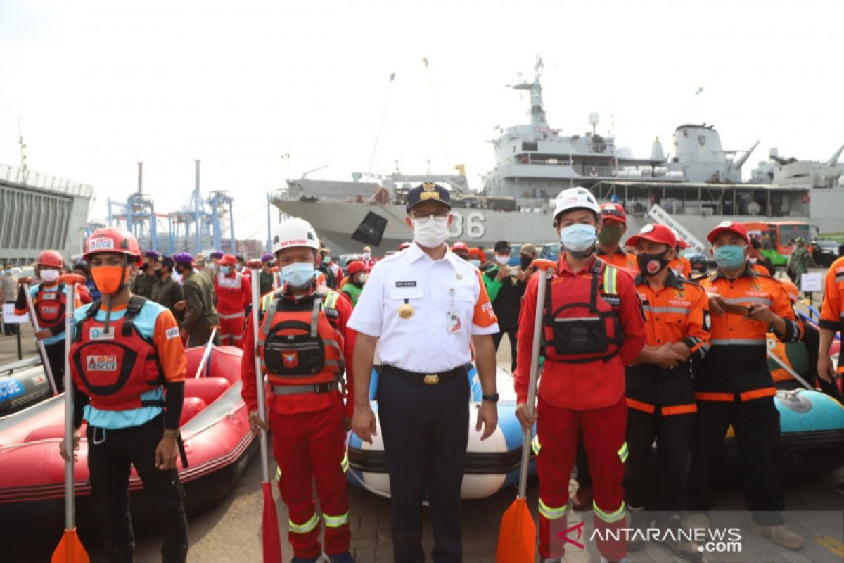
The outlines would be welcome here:
M 70 345 L 73 342 L 73 304 L 76 301 L 76 284 L 84 284 L 84 278 L 75 273 L 59 276 L 64 283 L 64 295 L 68 300 L 68 311 L 64 319 L 64 451 L 68 461 L 64 463 L 64 535 L 53 551 L 51 563 L 88 563 L 88 553 L 76 534 L 76 514 L 73 496 L 73 382 L 70 377 Z M 30 295 L 27 291 L 26 295 Z

